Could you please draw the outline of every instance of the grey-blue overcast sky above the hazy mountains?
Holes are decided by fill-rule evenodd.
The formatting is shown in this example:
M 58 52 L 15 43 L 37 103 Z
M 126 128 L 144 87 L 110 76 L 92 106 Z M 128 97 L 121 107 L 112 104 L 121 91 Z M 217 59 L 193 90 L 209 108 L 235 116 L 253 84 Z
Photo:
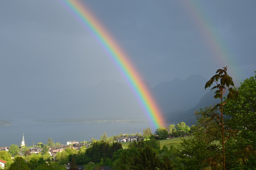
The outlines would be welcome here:
M 233 79 L 256 70 L 256 1 L 84 0 L 142 78 Z M 123 82 L 94 37 L 57 0 L 0 1 L 2 88 L 76 88 Z

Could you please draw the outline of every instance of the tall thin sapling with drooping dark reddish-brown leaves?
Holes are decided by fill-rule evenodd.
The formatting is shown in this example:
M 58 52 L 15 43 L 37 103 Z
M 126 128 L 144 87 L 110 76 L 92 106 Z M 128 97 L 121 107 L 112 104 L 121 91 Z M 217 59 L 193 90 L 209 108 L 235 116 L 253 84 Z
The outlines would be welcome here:
M 212 89 L 217 89 L 215 91 L 214 98 L 220 98 L 221 102 L 216 105 L 216 109 L 219 109 L 220 115 L 216 114 L 214 117 L 218 119 L 221 125 L 221 133 L 222 133 L 222 155 L 223 155 L 223 167 L 224 170 L 226 170 L 226 162 L 225 162 L 225 148 L 224 148 L 224 121 L 223 121 L 223 106 L 226 102 L 223 101 L 223 95 L 226 93 L 226 91 L 229 91 L 227 95 L 227 100 L 228 99 L 234 99 L 235 97 L 238 96 L 238 93 L 236 89 L 233 89 L 232 86 L 234 87 L 234 82 L 232 80 L 232 77 L 230 77 L 227 74 L 227 67 L 223 67 L 223 69 L 218 69 L 216 71 L 216 74 L 206 82 L 205 84 L 205 89 L 208 87 L 211 87 L 213 83 L 216 83 Z M 230 87 L 231 86 L 231 87 Z M 214 118 L 213 117 L 213 118 Z

